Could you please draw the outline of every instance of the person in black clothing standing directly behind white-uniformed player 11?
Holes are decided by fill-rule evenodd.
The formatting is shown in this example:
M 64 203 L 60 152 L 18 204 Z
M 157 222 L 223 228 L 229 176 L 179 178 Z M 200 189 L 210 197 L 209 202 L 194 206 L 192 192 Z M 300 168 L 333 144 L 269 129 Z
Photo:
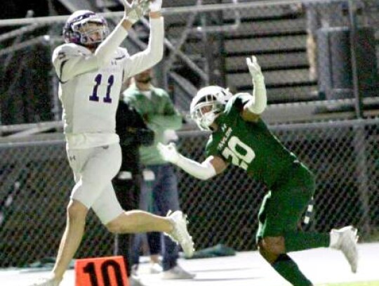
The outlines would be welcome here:
M 138 149 L 141 145 L 151 145 L 154 131 L 134 108 L 120 100 L 116 114 L 116 133 L 120 137 L 122 162 L 119 174 L 112 180 L 117 200 L 126 211 L 138 209 L 142 183 L 142 168 Z M 131 285 L 142 285 L 137 277 L 131 275 L 131 248 L 133 234 L 117 234 L 114 237 L 114 254 L 124 256 L 126 273 Z

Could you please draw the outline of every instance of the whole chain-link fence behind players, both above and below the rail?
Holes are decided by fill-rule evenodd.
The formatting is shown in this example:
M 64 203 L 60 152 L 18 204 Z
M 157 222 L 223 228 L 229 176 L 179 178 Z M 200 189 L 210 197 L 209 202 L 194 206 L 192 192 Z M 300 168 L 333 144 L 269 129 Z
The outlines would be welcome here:
M 205 84 L 250 92 L 245 58 L 252 54 L 262 65 L 270 103 L 352 98 L 354 80 L 359 81 L 361 96 L 378 96 L 376 0 L 178 0 L 165 2 L 164 8 L 166 53 L 161 71 L 167 82 L 162 86 L 173 91 L 175 104 L 184 111 L 194 91 Z M 111 26 L 122 15 L 115 14 L 106 14 Z M 64 21 L 65 17 L 30 20 L 29 25 L 16 24 L 15 30 L 0 34 L 1 124 L 60 118 L 58 79 L 50 60 L 52 49 L 62 44 Z M 131 53 L 147 40 L 145 24 L 136 24 L 135 33 L 124 41 Z M 355 79 L 354 64 L 359 70 Z M 378 231 L 375 115 L 344 122 L 273 125 L 272 131 L 317 176 L 310 229 L 328 231 L 352 223 L 364 240 Z M 5 143 L 0 143 L 0 267 L 55 256 L 74 184 L 62 135 L 48 141 L 31 136 L 26 141 L 1 142 Z M 184 155 L 203 160 L 205 143 L 206 134 L 183 131 L 178 146 Z M 234 167 L 206 182 L 179 170 L 178 176 L 182 209 L 189 214 L 189 230 L 198 249 L 218 243 L 255 249 L 264 186 Z M 113 235 L 90 213 L 77 258 L 109 255 L 112 249 Z

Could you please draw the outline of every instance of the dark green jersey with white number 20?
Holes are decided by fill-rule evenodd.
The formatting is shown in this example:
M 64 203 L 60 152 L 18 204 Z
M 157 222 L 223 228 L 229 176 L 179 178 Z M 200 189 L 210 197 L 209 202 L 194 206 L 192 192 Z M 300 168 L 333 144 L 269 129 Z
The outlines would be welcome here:
M 246 122 L 241 117 L 243 93 L 233 96 L 215 122 L 218 129 L 206 145 L 207 156 L 222 157 L 271 188 L 278 180 L 291 174 L 293 169 L 303 167 L 293 153 L 287 150 L 265 122 Z M 305 168 L 305 167 L 304 167 Z

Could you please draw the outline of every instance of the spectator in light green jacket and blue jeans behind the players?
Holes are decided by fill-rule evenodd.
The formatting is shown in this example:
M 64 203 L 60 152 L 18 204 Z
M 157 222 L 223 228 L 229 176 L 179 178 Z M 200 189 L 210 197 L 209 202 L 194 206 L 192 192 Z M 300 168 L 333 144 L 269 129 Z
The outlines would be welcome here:
M 175 109 L 170 96 L 164 89 L 152 85 L 152 70 L 136 74 L 134 82 L 124 91 L 124 101 L 142 115 L 145 124 L 154 131 L 154 143 L 140 147 L 142 165 L 154 174 L 152 182 L 142 185 L 140 209 L 148 209 L 149 193 L 152 194 L 152 212 L 167 214 L 180 209 L 178 197 L 178 181 L 175 169 L 164 161 L 157 151 L 158 143 L 169 143 L 177 138 L 175 130 L 182 126 L 182 116 Z M 149 191 L 151 190 L 151 192 Z M 140 238 L 140 237 L 139 237 Z M 159 272 L 160 248 L 164 249 L 162 256 L 163 279 L 191 279 L 194 274 L 185 271 L 178 265 L 178 245 L 171 242 L 161 233 L 147 233 L 151 255 L 151 272 Z M 162 244 L 162 247 L 160 247 Z M 134 270 L 138 269 L 140 239 L 135 240 L 133 252 Z

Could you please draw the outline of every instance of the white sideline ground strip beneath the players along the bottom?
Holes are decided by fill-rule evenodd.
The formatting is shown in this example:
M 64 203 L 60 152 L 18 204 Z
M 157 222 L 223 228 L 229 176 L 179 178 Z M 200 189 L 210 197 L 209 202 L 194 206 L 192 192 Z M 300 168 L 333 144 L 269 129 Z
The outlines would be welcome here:
M 341 252 L 319 248 L 293 252 L 291 257 L 317 286 L 379 286 L 379 242 L 359 244 L 356 274 Z M 146 257 L 142 257 L 142 262 Z M 194 280 L 161 280 L 149 274 L 141 263 L 140 276 L 147 286 L 289 286 L 272 270 L 258 252 L 238 252 L 235 256 L 211 259 L 180 259 L 180 265 L 196 273 Z M 48 269 L 0 269 L 1 286 L 27 286 Z M 67 271 L 60 286 L 74 286 L 74 270 Z

